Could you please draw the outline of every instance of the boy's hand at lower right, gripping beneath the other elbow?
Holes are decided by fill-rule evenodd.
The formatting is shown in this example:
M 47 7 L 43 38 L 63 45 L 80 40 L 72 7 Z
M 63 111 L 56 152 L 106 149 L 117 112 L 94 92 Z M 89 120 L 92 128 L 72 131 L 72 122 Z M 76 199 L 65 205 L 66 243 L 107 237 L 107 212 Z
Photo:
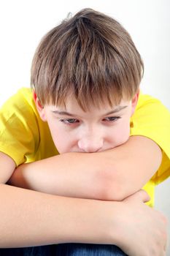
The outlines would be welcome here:
M 145 205 L 148 200 L 147 193 L 140 190 L 121 202 L 122 211 L 117 222 L 121 239 L 117 246 L 127 255 L 166 255 L 167 219 L 161 212 Z

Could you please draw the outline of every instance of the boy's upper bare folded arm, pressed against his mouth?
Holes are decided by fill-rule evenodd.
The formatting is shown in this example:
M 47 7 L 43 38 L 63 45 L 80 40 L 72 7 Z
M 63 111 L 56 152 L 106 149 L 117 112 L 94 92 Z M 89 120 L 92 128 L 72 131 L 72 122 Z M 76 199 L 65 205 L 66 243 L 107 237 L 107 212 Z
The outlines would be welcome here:
M 21 165 L 9 184 L 54 195 L 123 200 L 141 189 L 160 164 L 159 146 L 132 136 L 109 151 L 61 154 Z

